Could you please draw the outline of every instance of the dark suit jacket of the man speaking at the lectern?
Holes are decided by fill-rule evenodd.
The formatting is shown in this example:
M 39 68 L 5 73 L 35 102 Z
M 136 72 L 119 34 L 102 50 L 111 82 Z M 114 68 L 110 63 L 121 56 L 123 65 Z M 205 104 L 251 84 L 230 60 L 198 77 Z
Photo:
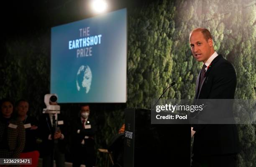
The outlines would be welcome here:
M 196 101 L 198 99 L 234 99 L 236 71 L 232 64 L 221 55 L 218 55 L 212 61 L 211 67 L 207 69 L 201 88 L 198 88 L 199 77 L 196 84 Z M 235 124 L 197 124 L 193 126 L 193 130 L 196 131 L 193 145 L 195 156 L 239 152 L 238 132 Z

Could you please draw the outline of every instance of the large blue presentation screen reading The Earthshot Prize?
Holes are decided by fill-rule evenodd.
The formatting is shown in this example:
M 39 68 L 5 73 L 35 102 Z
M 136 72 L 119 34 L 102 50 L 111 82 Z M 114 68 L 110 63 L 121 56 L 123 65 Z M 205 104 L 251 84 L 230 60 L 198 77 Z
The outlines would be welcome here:
M 127 12 L 51 28 L 51 93 L 59 103 L 125 103 Z

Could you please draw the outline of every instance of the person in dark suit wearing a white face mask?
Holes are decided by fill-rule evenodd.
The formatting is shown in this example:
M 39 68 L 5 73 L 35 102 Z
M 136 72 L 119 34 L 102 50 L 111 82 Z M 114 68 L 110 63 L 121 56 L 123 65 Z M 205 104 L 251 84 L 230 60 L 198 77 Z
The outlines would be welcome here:
M 95 124 L 90 119 L 90 106 L 83 104 L 80 106 L 79 118 L 73 129 L 73 167 L 95 166 Z

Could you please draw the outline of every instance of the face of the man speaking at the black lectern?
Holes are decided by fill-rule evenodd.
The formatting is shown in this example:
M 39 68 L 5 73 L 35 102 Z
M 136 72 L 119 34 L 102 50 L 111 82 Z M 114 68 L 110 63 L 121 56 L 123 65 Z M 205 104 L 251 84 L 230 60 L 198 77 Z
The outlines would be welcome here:
M 194 31 L 189 38 L 192 54 L 197 61 L 206 62 L 212 55 L 212 39 L 205 40 L 204 35 L 200 31 Z

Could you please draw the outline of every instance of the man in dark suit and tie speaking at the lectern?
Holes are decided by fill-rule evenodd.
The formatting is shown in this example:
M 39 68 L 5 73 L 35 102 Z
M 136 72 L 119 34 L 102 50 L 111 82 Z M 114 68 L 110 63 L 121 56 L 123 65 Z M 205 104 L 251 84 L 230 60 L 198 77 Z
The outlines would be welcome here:
M 209 30 L 205 28 L 192 30 L 189 43 L 194 58 L 203 62 L 196 83 L 196 101 L 234 99 L 236 71 L 230 62 L 215 52 Z M 213 112 L 206 111 L 204 114 L 214 115 L 220 112 L 218 109 L 211 111 Z M 232 112 L 232 110 L 222 111 Z M 196 131 L 193 167 L 236 167 L 236 154 L 240 148 L 235 124 L 195 124 L 193 130 Z

